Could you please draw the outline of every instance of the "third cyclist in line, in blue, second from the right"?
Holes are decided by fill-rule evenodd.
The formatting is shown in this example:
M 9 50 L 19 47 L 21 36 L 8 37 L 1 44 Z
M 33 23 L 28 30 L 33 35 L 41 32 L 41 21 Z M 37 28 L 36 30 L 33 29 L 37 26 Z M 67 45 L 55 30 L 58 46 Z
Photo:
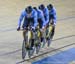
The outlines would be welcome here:
M 39 6 L 39 9 L 42 10 L 43 12 L 43 15 L 44 15 L 44 19 L 45 19 L 45 22 L 44 22 L 44 25 L 45 25 L 45 28 L 47 28 L 48 26 L 48 23 L 49 23 L 49 10 L 44 6 L 44 4 L 41 4 Z M 47 31 L 47 29 L 46 29 Z M 45 36 L 45 35 L 44 35 Z M 44 38 L 42 38 L 42 40 L 44 40 Z M 45 43 L 45 42 L 44 42 Z M 44 46 L 44 45 L 43 45 Z

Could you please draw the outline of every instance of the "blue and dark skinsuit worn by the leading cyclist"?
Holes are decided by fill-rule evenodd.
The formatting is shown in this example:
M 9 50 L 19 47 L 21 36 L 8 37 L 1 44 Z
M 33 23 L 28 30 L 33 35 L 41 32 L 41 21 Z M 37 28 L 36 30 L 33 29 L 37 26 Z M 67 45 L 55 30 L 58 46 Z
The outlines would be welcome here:
M 22 26 L 23 28 L 27 27 L 30 22 L 32 23 L 32 26 L 35 28 L 37 26 L 37 12 L 33 9 L 31 14 L 27 14 L 26 11 L 23 10 L 18 21 L 18 27 L 21 26 L 22 21 L 23 21 Z

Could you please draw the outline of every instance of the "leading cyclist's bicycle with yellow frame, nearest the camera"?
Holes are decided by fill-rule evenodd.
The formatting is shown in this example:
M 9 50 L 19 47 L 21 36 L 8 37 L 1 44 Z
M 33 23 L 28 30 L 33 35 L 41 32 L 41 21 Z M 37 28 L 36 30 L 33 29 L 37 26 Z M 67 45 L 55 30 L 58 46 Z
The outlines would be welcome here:
M 23 44 L 22 44 L 22 59 L 24 59 L 26 57 L 27 52 L 28 52 L 29 58 L 31 58 L 31 56 L 33 55 L 32 54 L 33 31 L 32 31 L 31 26 L 28 26 L 25 30 L 26 30 L 25 35 L 24 35 L 25 38 L 24 38 Z M 24 31 L 24 29 L 22 29 L 22 31 Z

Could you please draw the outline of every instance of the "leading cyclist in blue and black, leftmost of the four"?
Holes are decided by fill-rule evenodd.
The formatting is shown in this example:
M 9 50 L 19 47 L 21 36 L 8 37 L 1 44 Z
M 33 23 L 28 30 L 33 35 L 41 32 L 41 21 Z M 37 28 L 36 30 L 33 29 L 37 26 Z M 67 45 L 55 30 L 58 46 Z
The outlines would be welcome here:
M 23 31 L 23 37 L 25 40 L 25 33 L 26 33 L 26 28 L 28 27 L 29 23 L 32 24 L 32 29 L 35 30 L 37 26 L 37 12 L 32 8 L 32 6 L 28 6 L 25 8 L 25 10 L 22 11 L 21 16 L 18 21 L 18 28 L 17 31 L 20 30 L 22 20 L 24 19 L 23 26 L 22 28 L 24 29 Z M 32 39 L 34 41 L 34 39 Z M 32 42 L 32 47 L 33 47 L 33 42 Z

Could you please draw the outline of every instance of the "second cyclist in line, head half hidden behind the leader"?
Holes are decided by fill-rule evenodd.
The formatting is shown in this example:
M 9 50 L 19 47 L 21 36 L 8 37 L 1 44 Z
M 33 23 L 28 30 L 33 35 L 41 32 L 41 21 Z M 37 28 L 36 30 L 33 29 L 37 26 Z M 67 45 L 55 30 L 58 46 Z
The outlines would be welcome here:
M 37 9 L 36 7 L 33 7 L 36 11 L 37 11 L 37 21 L 38 21 L 38 24 L 39 24 L 39 27 L 41 30 L 41 42 L 43 41 L 43 29 L 44 29 L 44 24 L 45 24 L 45 18 L 44 18 L 44 15 L 43 15 L 43 12 L 40 10 L 40 9 Z

